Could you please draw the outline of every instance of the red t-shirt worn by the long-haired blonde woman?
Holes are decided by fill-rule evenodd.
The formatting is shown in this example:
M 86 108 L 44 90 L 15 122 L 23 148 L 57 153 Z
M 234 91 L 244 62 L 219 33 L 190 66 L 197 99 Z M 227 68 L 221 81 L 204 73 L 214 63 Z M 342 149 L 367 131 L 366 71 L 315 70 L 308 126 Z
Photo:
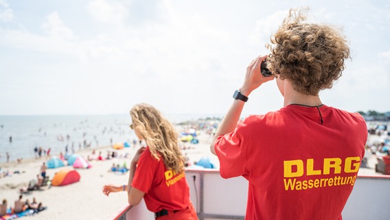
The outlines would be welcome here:
M 190 187 L 185 173 L 167 169 L 163 159 L 155 159 L 149 147 L 139 157 L 131 186 L 145 192 L 148 210 L 183 210 L 190 206 Z

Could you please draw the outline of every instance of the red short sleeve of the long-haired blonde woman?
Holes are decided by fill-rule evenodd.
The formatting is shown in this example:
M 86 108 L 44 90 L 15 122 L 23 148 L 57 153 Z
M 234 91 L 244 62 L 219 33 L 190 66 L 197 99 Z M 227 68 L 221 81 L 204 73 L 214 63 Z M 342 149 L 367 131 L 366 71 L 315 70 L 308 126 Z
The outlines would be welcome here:
M 137 188 L 137 190 L 148 193 L 150 188 L 152 188 L 156 168 L 154 165 L 156 162 L 157 160 L 152 158 L 148 149 L 144 151 L 144 153 L 141 154 L 141 157 L 139 157 L 131 186 Z

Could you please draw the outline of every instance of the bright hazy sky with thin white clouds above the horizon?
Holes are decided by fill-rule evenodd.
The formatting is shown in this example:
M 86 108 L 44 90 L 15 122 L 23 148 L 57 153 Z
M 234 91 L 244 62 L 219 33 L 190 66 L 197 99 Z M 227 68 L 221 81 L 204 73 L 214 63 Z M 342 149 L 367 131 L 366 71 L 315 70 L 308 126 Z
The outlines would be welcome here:
M 0 0 L 0 115 L 223 115 L 290 8 L 343 28 L 352 59 L 324 104 L 390 111 L 389 1 Z M 283 107 L 275 80 L 243 115 Z

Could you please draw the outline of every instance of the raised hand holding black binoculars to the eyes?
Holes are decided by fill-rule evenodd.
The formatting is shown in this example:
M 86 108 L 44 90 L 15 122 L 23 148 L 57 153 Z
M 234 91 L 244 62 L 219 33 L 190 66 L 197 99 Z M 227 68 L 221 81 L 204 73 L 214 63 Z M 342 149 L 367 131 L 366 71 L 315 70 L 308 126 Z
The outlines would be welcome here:
M 275 78 L 274 76 L 265 77 L 262 75 L 260 66 L 265 58 L 267 58 L 267 56 L 257 56 L 257 58 L 255 58 L 251 64 L 246 67 L 244 83 L 240 88 L 240 92 L 244 96 L 249 96 L 249 94 L 251 94 L 253 90 L 257 89 L 257 87 L 260 87 L 263 83 Z

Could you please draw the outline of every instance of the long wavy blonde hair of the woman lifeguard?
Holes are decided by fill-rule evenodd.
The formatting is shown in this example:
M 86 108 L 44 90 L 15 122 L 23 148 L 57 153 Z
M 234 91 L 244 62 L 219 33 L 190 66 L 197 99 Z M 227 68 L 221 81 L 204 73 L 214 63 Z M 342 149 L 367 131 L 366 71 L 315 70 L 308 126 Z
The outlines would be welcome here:
M 136 104 L 130 110 L 133 126 L 148 144 L 156 159 L 163 158 L 167 168 L 176 173 L 184 170 L 184 158 L 178 144 L 178 133 L 174 126 L 150 104 Z

